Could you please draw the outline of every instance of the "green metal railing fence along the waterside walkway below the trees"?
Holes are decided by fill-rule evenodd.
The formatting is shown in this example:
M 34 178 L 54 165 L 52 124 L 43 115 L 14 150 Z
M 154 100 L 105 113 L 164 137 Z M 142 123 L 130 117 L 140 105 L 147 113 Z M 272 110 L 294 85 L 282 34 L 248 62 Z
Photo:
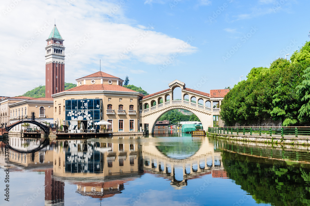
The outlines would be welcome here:
M 310 127 L 209 127 L 208 132 L 239 136 L 309 137 Z

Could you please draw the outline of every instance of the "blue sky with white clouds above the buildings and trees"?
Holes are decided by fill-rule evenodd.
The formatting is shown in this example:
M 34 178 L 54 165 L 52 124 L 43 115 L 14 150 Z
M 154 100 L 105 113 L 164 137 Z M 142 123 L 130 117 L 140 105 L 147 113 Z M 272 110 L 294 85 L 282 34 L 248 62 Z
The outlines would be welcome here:
M 306 0 L 2 0 L 0 96 L 45 84 L 56 22 L 65 82 L 100 69 L 148 93 L 175 79 L 202 92 L 233 87 L 309 41 Z M 240 76 L 243 76 L 240 78 Z

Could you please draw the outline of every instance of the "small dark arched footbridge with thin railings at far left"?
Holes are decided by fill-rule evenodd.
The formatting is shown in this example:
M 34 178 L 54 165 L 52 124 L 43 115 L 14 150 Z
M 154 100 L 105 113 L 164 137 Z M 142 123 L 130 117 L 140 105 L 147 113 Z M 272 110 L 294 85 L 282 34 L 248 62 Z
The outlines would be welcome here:
M 46 122 L 46 121 L 44 121 L 38 117 L 35 117 L 34 113 L 32 113 L 29 118 L 24 118 L 23 116 L 20 116 L 18 118 L 11 119 L 10 121 L 8 121 L 6 123 L 2 123 L 0 125 L 0 132 L 2 132 L 2 133 L 9 132 L 16 125 L 23 124 L 23 123 L 29 123 L 29 124 L 37 125 L 38 127 L 40 127 L 45 132 L 45 134 L 50 133 L 50 123 Z

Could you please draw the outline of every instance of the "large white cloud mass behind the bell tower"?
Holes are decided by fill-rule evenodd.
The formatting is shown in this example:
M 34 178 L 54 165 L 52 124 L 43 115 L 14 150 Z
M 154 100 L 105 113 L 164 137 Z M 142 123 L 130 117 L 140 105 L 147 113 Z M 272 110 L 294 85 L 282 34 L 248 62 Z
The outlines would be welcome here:
M 6 11 L 11 3 L 2 1 L 0 11 Z M 156 65 L 175 52 L 191 54 L 197 50 L 191 45 L 178 50 L 185 42 L 156 32 L 152 22 L 133 24 L 134 20 L 124 15 L 123 7 L 100 0 L 29 0 L 20 1 L 6 15 L 1 12 L 0 95 L 21 95 L 45 85 L 45 40 L 54 18 L 65 40 L 66 82 L 74 83 L 74 79 L 97 71 L 99 59 L 102 70 L 117 76 L 126 68 L 124 61 Z

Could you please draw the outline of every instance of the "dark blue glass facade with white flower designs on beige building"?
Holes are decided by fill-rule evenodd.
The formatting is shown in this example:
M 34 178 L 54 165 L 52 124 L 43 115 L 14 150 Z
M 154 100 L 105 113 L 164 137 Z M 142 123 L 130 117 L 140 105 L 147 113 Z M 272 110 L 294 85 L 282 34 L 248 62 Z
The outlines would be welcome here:
M 94 123 L 102 117 L 102 99 L 66 100 L 66 125 L 69 131 L 99 129 Z

